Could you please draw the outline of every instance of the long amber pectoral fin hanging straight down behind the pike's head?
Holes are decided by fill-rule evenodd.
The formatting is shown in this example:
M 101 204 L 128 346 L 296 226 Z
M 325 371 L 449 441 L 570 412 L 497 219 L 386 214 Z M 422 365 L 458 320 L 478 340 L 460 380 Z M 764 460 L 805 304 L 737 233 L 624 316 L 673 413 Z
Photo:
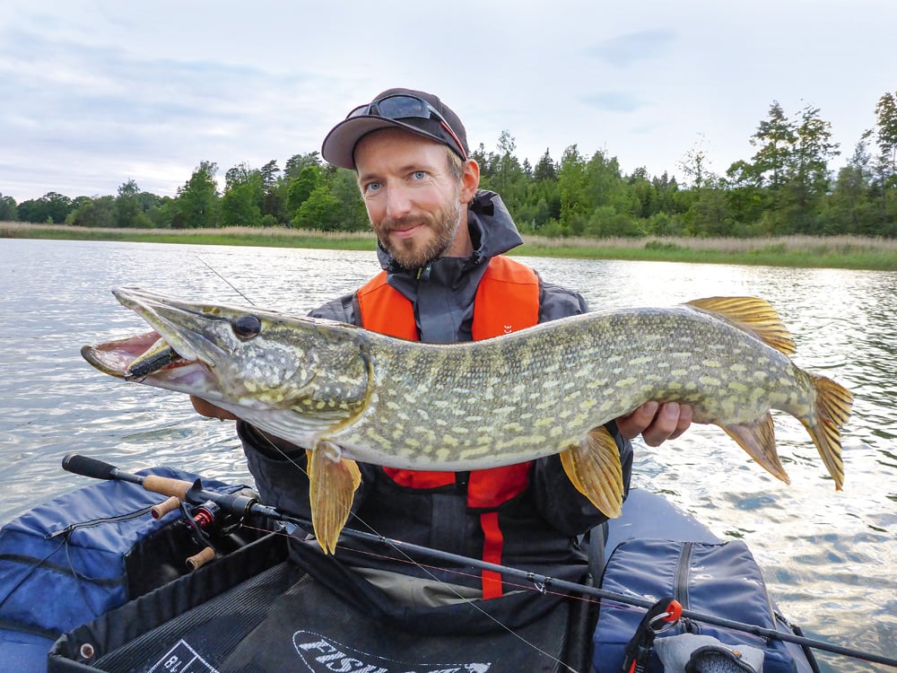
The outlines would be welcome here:
M 336 541 L 343 530 L 355 490 L 361 484 L 361 470 L 354 460 L 342 458 L 342 451 L 329 441 L 318 441 L 309 450 L 309 496 L 311 525 L 318 545 L 327 554 L 336 550 Z

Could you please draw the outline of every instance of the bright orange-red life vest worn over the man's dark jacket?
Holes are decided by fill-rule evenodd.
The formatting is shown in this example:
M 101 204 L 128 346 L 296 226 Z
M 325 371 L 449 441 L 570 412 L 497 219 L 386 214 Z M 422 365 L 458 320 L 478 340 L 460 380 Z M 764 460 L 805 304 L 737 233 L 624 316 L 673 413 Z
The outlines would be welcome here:
M 381 271 L 357 292 L 361 325 L 374 332 L 418 341 L 414 306 L 391 285 Z M 539 280 L 536 272 L 513 259 L 489 261 L 474 298 L 472 332 L 475 341 L 499 337 L 539 321 Z M 497 508 L 526 489 L 531 462 L 503 468 L 474 470 L 467 481 L 467 507 L 481 510 L 483 560 L 501 563 L 502 535 Z M 410 488 L 438 488 L 455 483 L 455 472 L 383 468 L 396 484 Z M 483 571 L 483 598 L 501 596 L 501 575 Z

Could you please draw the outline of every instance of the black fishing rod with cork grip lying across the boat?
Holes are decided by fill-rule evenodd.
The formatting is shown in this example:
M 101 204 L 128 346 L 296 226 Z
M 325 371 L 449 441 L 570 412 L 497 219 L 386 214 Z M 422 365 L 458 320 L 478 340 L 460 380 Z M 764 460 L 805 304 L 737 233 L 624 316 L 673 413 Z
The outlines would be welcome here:
M 291 523 L 299 526 L 300 529 L 310 532 L 311 522 L 309 520 L 284 514 L 274 507 L 259 503 L 256 498 L 242 494 L 219 494 L 212 491 L 206 491 L 203 488 L 202 480 L 196 479 L 194 482 L 188 482 L 182 479 L 175 479 L 168 476 L 155 475 L 135 475 L 123 472 L 119 468 L 100 460 L 82 456 L 77 453 L 68 453 L 62 460 L 62 467 L 68 472 L 76 475 L 90 476 L 95 479 L 109 479 L 117 481 L 126 481 L 132 484 L 141 485 L 144 490 L 158 493 L 161 495 L 176 496 L 185 503 L 200 504 L 212 502 L 217 504 L 222 510 L 227 511 L 237 517 L 245 517 L 250 514 L 256 514 L 267 519 L 281 521 L 283 523 Z M 482 559 L 473 558 L 471 556 L 454 554 L 452 552 L 442 551 L 440 549 L 432 549 L 429 546 L 415 545 L 410 542 L 403 542 L 395 538 L 388 538 L 376 533 L 368 533 L 363 530 L 343 529 L 342 535 L 349 538 L 365 540 L 367 542 L 379 543 L 391 548 L 400 549 L 407 555 L 415 555 L 431 560 L 440 561 L 442 563 L 468 565 L 477 570 L 486 570 L 498 572 L 507 577 L 512 577 L 520 581 L 531 584 L 534 589 L 545 592 L 548 589 L 563 590 L 570 594 L 579 594 L 590 598 L 610 600 L 617 603 L 632 607 L 640 607 L 649 609 L 656 605 L 656 601 L 642 599 L 638 596 L 627 596 L 626 594 L 616 591 L 600 589 L 598 587 L 590 587 L 574 581 L 560 580 L 538 572 L 522 570 L 509 565 L 493 564 Z M 570 595 L 568 594 L 568 595 Z M 883 655 L 873 654 L 855 650 L 840 645 L 834 645 L 829 642 L 807 638 L 802 635 L 782 633 L 775 629 L 766 628 L 745 622 L 738 622 L 733 619 L 719 617 L 715 615 L 707 615 L 695 610 L 683 608 L 682 616 L 689 617 L 695 621 L 721 626 L 733 631 L 740 631 L 746 634 L 753 634 L 762 638 L 779 640 L 783 642 L 793 642 L 802 647 L 813 648 L 814 650 L 827 651 L 832 654 L 840 654 L 858 660 L 865 660 L 872 663 L 884 664 L 897 668 L 897 659 L 884 657 Z

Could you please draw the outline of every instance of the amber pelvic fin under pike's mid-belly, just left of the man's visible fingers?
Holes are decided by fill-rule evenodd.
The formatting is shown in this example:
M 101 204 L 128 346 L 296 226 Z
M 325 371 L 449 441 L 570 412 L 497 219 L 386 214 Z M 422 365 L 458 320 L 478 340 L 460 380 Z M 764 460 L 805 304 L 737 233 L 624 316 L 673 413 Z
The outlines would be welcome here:
M 614 437 L 602 425 L 562 451 L 561 464 L 579 493 L 609 519 L 623 511 L 623 467 Z

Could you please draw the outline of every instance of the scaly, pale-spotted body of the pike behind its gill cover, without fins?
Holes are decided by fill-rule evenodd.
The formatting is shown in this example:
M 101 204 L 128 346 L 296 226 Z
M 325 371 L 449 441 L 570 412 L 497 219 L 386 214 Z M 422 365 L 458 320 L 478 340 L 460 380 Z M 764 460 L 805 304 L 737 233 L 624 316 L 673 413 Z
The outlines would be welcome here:
M 706 423 L 750 423 L 770 406 L 813 419 L 814 389 L 787 356 L 690 309 L 587 313 L 473 344 L 371 335 L 369 348 L 369 404 L 330 439 L 399 468 L 551 455 L 649 399 L 691 404 Z

